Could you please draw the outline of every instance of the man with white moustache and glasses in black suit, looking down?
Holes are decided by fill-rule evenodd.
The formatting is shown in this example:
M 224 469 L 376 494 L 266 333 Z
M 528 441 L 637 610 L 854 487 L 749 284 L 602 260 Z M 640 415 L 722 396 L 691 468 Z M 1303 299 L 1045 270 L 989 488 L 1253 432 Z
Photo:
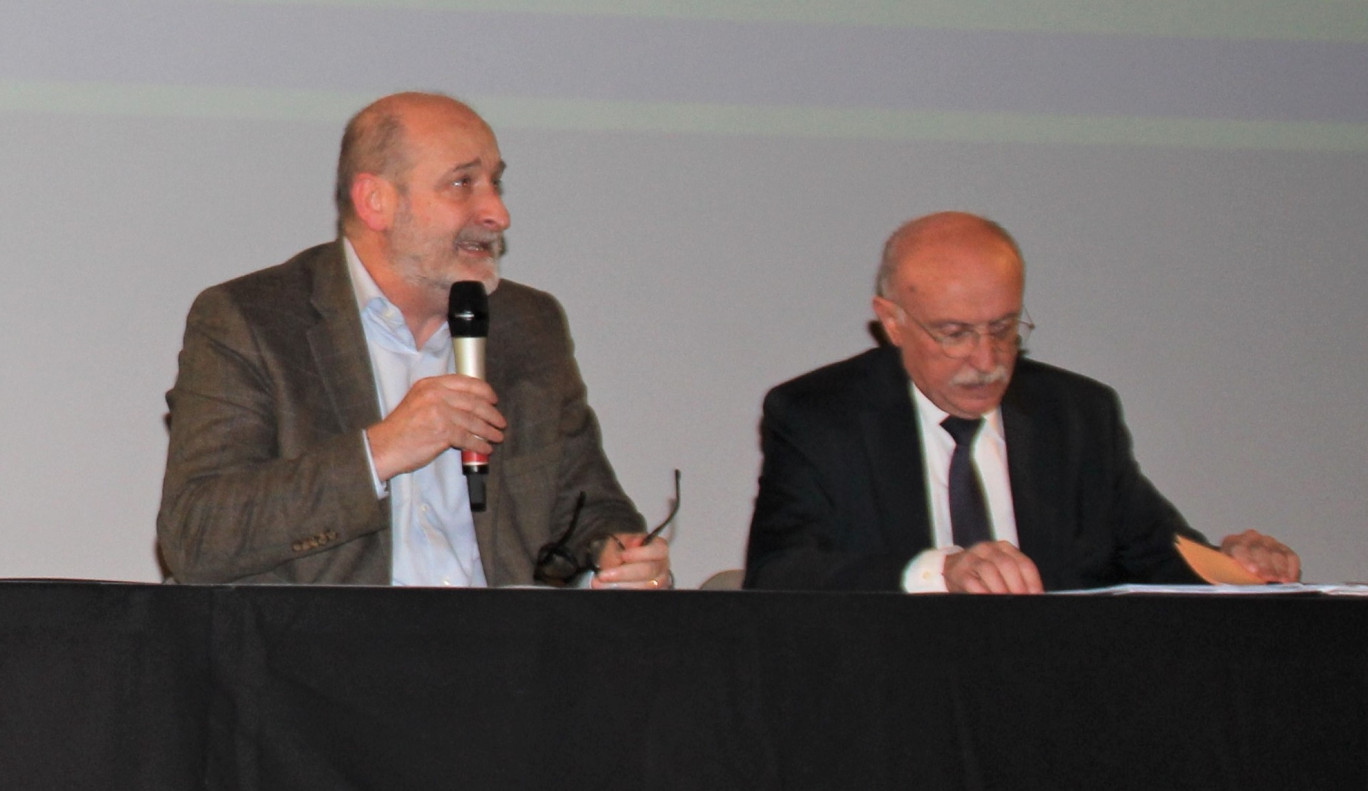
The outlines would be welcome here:
M 765 398 L 746 586 L 1040 593 L 1200 582 L 1204 541 L 1141 474 L 1115 391 L 1018 359 L 1025 264 L 996 223 L 944 212 L 884 248 L 891 346 Z M 1222 552 L 1268 582 L 1300 560 L 1256 531 Z

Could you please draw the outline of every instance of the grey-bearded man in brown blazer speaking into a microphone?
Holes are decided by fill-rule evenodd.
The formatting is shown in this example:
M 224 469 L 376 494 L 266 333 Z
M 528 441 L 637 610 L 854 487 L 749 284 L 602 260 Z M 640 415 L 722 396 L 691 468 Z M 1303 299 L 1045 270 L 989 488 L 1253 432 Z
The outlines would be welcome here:
M 501 281 L 505 163 L 440 94 L 358 112 L 338 239 L 208 289 L 186 320 L 157 538 L 196 583 L 531 584 L 566 547 L 594 587 L 669 587 L 669 550 L 603 456 L 560 304 Z M 486 379 L 456 374 L 447 298 L 490 293 Z M 473 509 L 460 450 L 488 454 Z M 577 500 L 583 495 L 583 508 Z

